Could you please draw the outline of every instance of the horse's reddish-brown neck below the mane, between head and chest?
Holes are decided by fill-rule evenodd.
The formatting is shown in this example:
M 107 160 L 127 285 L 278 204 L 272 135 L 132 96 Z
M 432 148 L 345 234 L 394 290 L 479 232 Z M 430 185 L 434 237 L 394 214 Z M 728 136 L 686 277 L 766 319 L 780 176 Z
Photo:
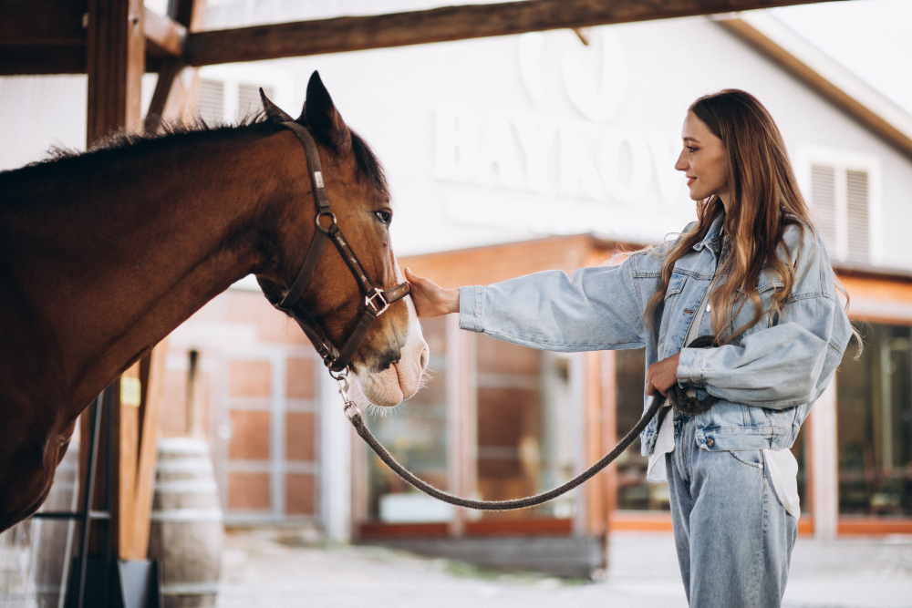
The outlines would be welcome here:
M 0 290 L 16 287 L 25 309 L 19 320 L 46 351 L 30 357 L 35 368 L 26 373 L 45 380 L 39 388 L 47 380 L 60 387 L 58 406 L 75 416 L 142 353 L 265 263 L 262 243 L 277 230 L 268 218 L 275 222 L 276 206 L 302 179 L 278 153 L 278 139 L 191 140 L 115 160 L 66 184 L 45 183 L 48 196 L 32 197 L 34 212 L 20 206 L 11 230 L 0 229 L 19 245 L 0 249 L 0 279 L 4 255 L 15 258 L 6 268 L 19 271 Z

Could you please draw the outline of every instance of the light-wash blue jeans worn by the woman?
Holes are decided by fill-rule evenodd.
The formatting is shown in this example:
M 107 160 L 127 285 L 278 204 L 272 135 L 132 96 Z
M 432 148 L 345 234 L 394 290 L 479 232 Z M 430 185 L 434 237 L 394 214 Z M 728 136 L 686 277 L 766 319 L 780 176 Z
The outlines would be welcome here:
M 666 455 L 675 547 L 695 608 L 782 604 L 798 522 L 772 489 L 760 449 L 700 448 L 692 416 Z

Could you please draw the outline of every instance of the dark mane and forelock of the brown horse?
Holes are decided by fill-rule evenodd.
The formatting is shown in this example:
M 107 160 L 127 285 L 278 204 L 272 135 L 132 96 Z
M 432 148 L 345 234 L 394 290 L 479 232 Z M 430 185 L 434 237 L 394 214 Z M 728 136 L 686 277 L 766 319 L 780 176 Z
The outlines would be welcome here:
M 209 124 L 203 119 L 196 119 L 190 124 L 161 123 L 149 133 L 120 131 L 87 150 L 53 147 L 48 149 L 47 157 L 42 160 L 36 160 L 19 169 L 0 170 L 0 190 L 10 194 L 35 181 L 66 179 L 74 174 L 87 174 L 96 167 L 100 168 L 111 162 L 140 160 L 153 151 L 161 152 L 187 144 L 218 143 L 244 137 L 254 139 L 271 135 L 281 129 L 278 123 L 267 120 L 265 113 L 261 111 L 250 114 L 234 124 Z M 368 180 L 368 183 L 382 194 L 388 194 L 385 171 L 373 150 L 353 130 L 351 140 L 358 177 Z

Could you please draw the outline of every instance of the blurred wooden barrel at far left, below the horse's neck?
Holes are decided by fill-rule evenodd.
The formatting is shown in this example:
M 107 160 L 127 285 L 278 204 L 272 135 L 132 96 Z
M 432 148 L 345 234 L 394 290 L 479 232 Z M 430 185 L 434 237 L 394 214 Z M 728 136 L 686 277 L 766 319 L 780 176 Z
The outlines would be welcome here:
M 79 432 L 57 465 L 54 484 L 41 506 L 43 511 L 78 510 Z M 35 600 L 39 608 L 57 608 L 60 589 L 72 568 L 71 555 L 79 541 L 79 526 L 74 520 L 30 521 L 32 551 L 35 553 Z

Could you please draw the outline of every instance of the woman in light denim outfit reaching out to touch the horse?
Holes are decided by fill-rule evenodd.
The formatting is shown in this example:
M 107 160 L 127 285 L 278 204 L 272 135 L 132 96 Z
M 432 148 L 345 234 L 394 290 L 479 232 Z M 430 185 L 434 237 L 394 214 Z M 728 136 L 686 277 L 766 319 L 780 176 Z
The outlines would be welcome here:
M 668 479 L 690 605 L 778 606 L 797 532 L 789 451 L 852 335 L 782 135 L 748 93 L 690 106 L 675 164 L 697 222 L 613 267 L 440 289 L 410 273 L 420 316 L 558 351 L 646 348 L 646 401 L 678 384 L 696 415 L 641 436 L 650 480 Z M 689 348 L 700 335 L 715 347 Z M 658 420 L 662 424 L 658 424 Z

